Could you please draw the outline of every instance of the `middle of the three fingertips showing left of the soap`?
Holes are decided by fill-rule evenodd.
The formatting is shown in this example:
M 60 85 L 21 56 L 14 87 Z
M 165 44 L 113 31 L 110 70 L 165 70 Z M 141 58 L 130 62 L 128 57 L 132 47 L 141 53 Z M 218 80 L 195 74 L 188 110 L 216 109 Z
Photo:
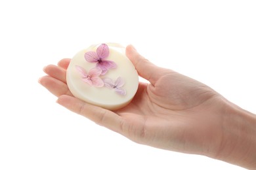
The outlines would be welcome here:
M 43 68 L 43 71 L 45 71 L 47 75 L 66 83 L 66 70 L 62 67 L 58 67 L 56 65 L 47 65 L 45 68 Z

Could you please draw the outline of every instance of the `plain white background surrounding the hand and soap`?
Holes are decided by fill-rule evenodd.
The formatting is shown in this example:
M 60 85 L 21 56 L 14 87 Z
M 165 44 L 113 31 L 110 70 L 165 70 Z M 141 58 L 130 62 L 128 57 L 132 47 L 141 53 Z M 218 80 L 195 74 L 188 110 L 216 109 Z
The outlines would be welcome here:
M 133 143 L 56 104 L 45 65 L 133 44 L 256 112 L 254 1 L 0 1 L 0 169 L 242 169 Z

